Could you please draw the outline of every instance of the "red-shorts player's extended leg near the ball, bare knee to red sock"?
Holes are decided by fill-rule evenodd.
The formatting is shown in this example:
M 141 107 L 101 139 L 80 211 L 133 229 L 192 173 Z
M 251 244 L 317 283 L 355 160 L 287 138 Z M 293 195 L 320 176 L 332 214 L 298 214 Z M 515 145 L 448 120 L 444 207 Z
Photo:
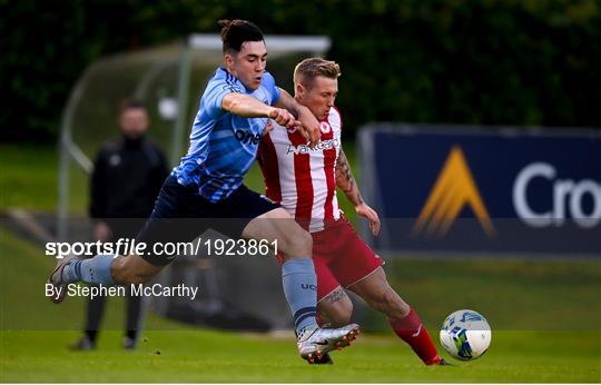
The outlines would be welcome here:
M 382 267 L 348 286 L 348 289 L 362 297 L 373 309 L 384 313 L 394 333 L 413 348 L 424 364 L 439 365 L 442 363 L 420 316 L 388 285 Z

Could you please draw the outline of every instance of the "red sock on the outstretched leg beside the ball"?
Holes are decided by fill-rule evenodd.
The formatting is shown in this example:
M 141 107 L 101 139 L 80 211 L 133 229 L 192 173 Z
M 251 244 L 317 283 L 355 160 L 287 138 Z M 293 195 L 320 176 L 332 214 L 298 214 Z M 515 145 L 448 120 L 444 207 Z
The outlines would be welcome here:
M 433 365 L 440 363 L 441 357 L 436 352 L 436 347 L 432 343 L 426 328 L 422 325 L 420 316 L 413 308 L 405 318 L 388 318 L 388 324 L 391 324 L 394 333 L 411 346 L 424 364 Z

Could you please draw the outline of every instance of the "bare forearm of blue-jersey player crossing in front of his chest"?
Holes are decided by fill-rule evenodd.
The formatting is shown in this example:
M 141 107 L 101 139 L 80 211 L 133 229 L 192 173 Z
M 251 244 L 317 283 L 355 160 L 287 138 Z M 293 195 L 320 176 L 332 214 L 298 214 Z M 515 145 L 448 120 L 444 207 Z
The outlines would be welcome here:
M 287 128 L 300 126 L 300 121 L 297 121 L 287 110 L 268 106 L 244 93 L 231 92 L 226 95 L 221 101 L 221 108 L 244 118 L 270 118 Z

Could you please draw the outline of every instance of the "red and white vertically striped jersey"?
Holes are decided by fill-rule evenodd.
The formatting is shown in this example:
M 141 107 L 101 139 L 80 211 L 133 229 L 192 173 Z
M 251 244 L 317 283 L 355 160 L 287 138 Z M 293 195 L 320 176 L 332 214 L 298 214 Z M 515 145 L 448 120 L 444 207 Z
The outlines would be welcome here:
M 311 233 L 341 217 L 336 199 L 336 159 L 341 151 L 342 119 L 332 108 L 321 121 L 322 139 L 314 148 L 300 132 L 272 122 L 263 137 L 258 160 L 265 178 L 265 195 L 282 205 Z

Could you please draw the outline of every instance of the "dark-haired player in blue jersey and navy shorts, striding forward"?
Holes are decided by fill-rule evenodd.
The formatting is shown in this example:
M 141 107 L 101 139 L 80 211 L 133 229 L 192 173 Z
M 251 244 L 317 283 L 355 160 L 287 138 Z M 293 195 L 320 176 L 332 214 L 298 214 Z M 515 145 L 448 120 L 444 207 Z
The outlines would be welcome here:
M 217 69 L 209 80 L 194 121 L 188 152 L 166 179 L 137 241 L 191 241 L 209 227 L 235 238 L 277 241 L 284 258 L 282 282 L 298 335 L 298 351 L 303 358 L 313 361 L 346 346 L 356 337 L 358 326 L 317 326 L 311 235 L 277 204 L 250 191 L 243 179 L 256 159 L 268 119 L 304 132 L 312 145 L 319 140 L 319 122 L 265 71 L 267 49 L 257 26 L 245 20 L 221 20 L 219 26 L 225 67 Z M 145 283 L 171 259 L 148 251 L 98 255 L 85 260 L 67 257 L 50 275 L 49 284 L 57 292 L 52 298 L 61 302 L 66 286 L 76 282 L 109 286 Z

